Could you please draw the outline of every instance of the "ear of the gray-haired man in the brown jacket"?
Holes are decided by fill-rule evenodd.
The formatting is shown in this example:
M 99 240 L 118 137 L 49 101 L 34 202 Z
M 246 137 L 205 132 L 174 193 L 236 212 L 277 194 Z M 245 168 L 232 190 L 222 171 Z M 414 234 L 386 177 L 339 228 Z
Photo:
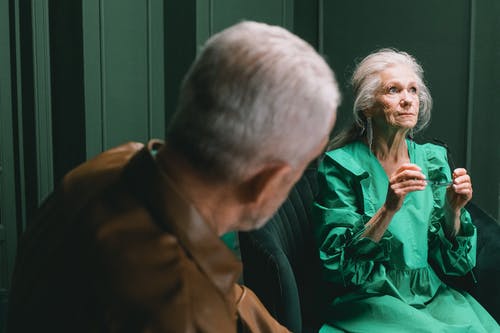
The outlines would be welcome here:
M 239 198 L 242 203 L 265 205 L 270 196 L 279 195 L 292 175 L 292 168 L 284 162 L 268 163 L 242 182 Z

